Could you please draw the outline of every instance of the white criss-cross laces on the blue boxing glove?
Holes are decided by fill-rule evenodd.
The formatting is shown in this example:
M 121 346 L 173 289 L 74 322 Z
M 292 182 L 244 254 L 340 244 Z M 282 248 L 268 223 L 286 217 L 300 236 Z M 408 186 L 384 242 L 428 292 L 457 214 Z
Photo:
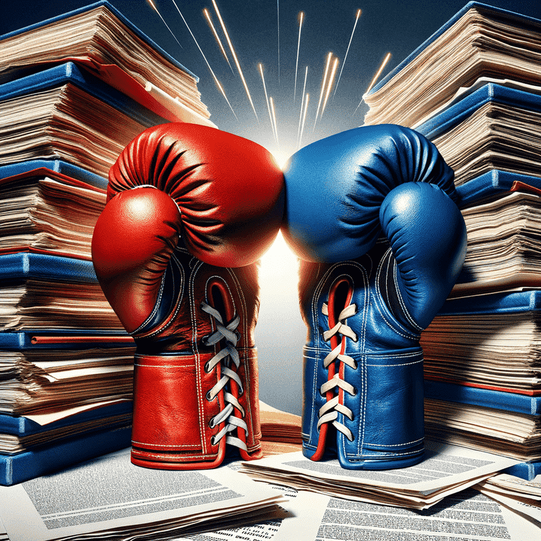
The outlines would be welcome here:
M 354 342 L 356 342 L 356 333 L 345 323 L 347 318 L 355 315 L 356 311 L 357 308 L 355 304 L 349 304 L 348 306 L 346 306 L 338 316 L 338 323 L 332 329 L 323 332 L 323 340 L 327 342 L 333 336 L 339 335 L 340 337 L 348 337 L 351 340 L 354 340 Z M 328 304 L 323 303 L 322 312 L 325 316 L 329 315 Z M 355 360 L 349 355 L 344 355 L 340 353 L 342 349 L 341 342 L 342 340 L 340 340 L 337 347 L 332 349 L 332 352 L 330 352 L 325 357 L 325 359 L 323 359 L 324 368 L 328 368 L 331 363 L 333 363 L 335 360 L 338 360 L 339 362 L 347 364 L 347 366 L 356 370 L 357 363 L 355 362 Z M 337 388 L 342 389 L 349 394 L 352 394 L 352 396 L 355 396 L 355 394 L 357 393 L 356 388 L 350 383 L 347 383 L 347 381 L 342 380 L 339 373 L 335 373 L 333 378 L 323 383 L 323 385 L 321 385 L 320 392 L 322 396 L 325 396 L 328 391 L 335 390 Z M 338 413 L 342 413 L 342 415 L 349 418 L 350 421 L 353 421 L 353 411 L 347 406 L 344 406 L 344 404 L 340 404 L 339 395 L 335 394 L 332 399 L 325 402 L 325 404 L 323 404 L 323 406 L 321 406 L 321 408 L 319 409 L 319 420 L 317 428 L 319 430 L 321 425 L 323 425 L 324 423 L 332 423 L 332 425 L 335 426 L 337 430 L 340 430 L 340 432 L 344 434 L 350 442 L 352 442 L 354 440 L 354 435 L 352 431 L 347 428 L 347 426 L 345 426 L 343 423 L 340 423 L 340 421 L 337 421 Z

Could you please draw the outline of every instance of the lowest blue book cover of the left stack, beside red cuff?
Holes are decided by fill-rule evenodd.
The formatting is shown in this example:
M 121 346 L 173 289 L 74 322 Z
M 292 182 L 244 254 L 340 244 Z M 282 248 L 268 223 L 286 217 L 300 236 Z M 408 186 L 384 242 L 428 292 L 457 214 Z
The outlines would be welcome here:
M 0 454 L 0 485 L 10 486 L 130 447 L 131 426 L 85 434 L 15 455 Z

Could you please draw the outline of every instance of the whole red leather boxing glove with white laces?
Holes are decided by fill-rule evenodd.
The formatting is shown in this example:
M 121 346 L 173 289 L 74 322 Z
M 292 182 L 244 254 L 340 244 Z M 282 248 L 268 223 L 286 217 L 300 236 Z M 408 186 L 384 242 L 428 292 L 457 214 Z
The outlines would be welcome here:
M 150 128 L 111 168 L 92 259 L 137 344 L 135 464 L 213 468 L 227 444 L 261 456 L 254 262 L 282 211 L 270 154 L 215 128 Z

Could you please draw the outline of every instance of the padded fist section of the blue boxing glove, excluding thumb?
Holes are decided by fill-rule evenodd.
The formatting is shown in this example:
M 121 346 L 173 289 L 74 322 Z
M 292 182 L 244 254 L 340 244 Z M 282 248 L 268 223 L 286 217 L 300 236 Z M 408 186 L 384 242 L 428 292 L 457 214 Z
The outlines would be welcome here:
M 385 196 L 404 182 L 431 182 L 457 199 L 454 173 L 423 135 L 363 126 L 309 144 L 285 170 L 282 233 L 306 261 L 345 261 L 380 235 Z M 340 242 L 337 242 L 340 239 Z

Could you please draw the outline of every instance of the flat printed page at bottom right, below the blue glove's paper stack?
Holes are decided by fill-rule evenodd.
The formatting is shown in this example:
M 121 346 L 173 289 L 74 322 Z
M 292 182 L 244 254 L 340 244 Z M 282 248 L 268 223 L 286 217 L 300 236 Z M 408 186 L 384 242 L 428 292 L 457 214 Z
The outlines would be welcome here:
M 535 524 L 471 489 L 425 511 L 309 492 L 299 492 L 288 502 L 288 509 L 291 517 L 281 521 L 273 541 L 529 541 L 541 537 Z

